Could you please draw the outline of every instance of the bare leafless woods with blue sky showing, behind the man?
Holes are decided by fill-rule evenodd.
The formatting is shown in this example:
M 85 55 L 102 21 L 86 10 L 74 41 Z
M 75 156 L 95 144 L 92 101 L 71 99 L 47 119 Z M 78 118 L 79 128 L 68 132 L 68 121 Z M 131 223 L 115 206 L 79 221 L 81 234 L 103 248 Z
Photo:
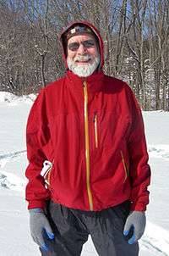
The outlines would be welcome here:
M 128 81 L 144 110 L 169 111 L 168 0 L 0 0 L 0 91 L 38 92 L 64 72 L 59 34 L 88 19 L 105 72 Z

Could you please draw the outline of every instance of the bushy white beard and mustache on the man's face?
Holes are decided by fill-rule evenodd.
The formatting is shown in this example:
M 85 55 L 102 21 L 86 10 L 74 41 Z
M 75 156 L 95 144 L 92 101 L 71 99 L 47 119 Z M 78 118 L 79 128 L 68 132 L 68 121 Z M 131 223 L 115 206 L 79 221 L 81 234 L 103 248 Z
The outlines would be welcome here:
M 87 54 L 85 56 L 78 56 L 74 61 L 72 61 L 70 58 L 67 57 L 67 63 L 68 63 L 68 69 L 72 70 L 74 74 L 79 75 L 80 77 L 87 77 L 97 69 L 98 65 L 100 64 L 100 54 L 95 57 L 94 62 L 92 64 L 82 64 L 78 65 L 75 63 L 76 60 L 88 60 L 90 59 L 90 55 Z

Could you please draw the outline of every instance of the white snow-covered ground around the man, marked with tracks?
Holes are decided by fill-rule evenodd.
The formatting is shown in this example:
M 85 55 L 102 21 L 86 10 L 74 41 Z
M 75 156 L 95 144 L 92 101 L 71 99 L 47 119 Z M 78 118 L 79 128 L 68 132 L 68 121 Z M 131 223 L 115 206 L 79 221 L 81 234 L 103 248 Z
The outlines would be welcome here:
M 37 256 L 25 203 L 25 125 L 34 95 L 0 92 L 0 256 Z M 140 256 L 169 256 L 169 113 L 144 112 L 152 181 Z M 89 238 L 83 256 L 96 256 Z

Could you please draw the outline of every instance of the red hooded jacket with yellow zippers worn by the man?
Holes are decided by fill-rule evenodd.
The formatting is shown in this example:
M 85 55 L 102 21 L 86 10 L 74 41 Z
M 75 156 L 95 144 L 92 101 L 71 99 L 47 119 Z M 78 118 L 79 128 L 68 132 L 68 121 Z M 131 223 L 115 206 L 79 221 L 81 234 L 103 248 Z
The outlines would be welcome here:
M 102 39 L 90 28 L 99 38 L 102 68 Z M 144 124 L 125 82 L 102 70 L 85 79 L 68 70 L 41 90 L 26 134 L 29 209 L 43 208 L 49 198 L 86 211 L 125 200 L 131 201 L 131 210 L 146 209 L 150 166 Z M 46 160 L 51 164 L 42 170 Z

